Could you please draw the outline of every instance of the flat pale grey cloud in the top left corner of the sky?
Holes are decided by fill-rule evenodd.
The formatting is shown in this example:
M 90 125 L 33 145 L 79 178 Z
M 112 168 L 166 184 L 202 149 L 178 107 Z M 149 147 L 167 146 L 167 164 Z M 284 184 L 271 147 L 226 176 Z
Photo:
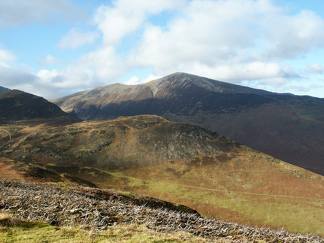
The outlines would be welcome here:
M 84 11 L 68 0 L 0 1 L 0 9 L 0 28 L 86 18 Z

